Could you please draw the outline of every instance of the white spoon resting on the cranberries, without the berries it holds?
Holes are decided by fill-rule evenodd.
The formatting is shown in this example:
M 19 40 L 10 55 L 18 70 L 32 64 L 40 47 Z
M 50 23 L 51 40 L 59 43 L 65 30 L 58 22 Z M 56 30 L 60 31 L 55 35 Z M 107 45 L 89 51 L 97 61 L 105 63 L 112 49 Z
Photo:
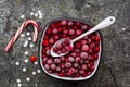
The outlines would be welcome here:
M 73 47 L 74 47 L 74 42 L 76 42 L 77 40 L 83 38 L 84 36 L 89 35 L 89 34 L 92 34 L 92 33 L 94 33 L 94 32 L 96 32 L 96 30 L 99 30 L 99 29 L 101 29 L 101 28 L 105 28 L 105 27 L 107 27 L 107 26 L 109 26 L 109 25 L 112 25 L 112 24 L 114 24 L 114 23 L 115 23 L 115 17 L 114 17 L 114 16 L 108 16 L 108 17 L 106 17 L 106 18 L 103 20 L 101 23 L 99 23 L 96 26 L 94 26 L 92 29 L 86 32 L 84 34 L 82 34 L 82 35 L 80 35 L 80 36 L 78 36 L 78 37 L 76 37 L 75 39 L 69 39 L 70 47 L 73 48 Z M 66 39 L 66 38 L 62 38 L 62 39 L 57 40 L 57 41 L 53 45 L 53 47 L 51 48 L 51 55 L 52 55 L 52 57 L 62 57 L 62 55 L 65 55 L 65 54 L 67 54 L 67 53 L 69 52 L 69 51 L 66 51 L 65 53 L 60 53 L 60 54 L 56 53 L 56 52 L 54 52 L 54 48 L 55 48 L 57 45 L 62 44 L 65 39 Z

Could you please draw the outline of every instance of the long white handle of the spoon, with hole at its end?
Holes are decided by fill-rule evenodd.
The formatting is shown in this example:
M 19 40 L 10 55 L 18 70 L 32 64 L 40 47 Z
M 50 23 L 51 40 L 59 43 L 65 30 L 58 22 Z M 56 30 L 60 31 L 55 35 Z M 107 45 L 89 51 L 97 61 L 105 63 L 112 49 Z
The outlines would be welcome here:
M 99 23 L 95 27 L 93 27 L 92 29 L 90 29 L 89 32 L 86 32 L 84 34 L 76 37 L 75 39 L 73 39 L 72 41 L 75 42 L 81 38 L 83 38 L 84 36 L 92 34 L 95 30 L 99 30 L 101 28 L 107 27 L 109 25 L 112 25 L 115 22 L 115 17 L 114 16 L 108 16 L 105 20 L 103 20 L 101 23 Z

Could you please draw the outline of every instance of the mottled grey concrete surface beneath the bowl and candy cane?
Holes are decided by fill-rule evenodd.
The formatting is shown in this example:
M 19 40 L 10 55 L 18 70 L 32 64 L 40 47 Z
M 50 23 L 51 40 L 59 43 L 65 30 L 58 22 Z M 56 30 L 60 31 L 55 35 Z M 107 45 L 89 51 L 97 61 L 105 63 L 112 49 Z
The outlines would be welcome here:
M 0 87 L 17 87 L 17 78 L 22 79 L 22 87 L 130 87 L 129 5 L 130 0 L 0 0 Z M 43 13 L 42 20 L 29 16 L 30 12 L 38 10 Z M 22 14 L 26 18 L 21 20 Z M 40 66 L 25 64 L 23 59 L 27 57 L 23 53 L 26 50 L 34 51 L 38 57 L 39 41 L 34 49 L 24 49 L 24 39 L 20 38 L 10 52 L 3 50 L 20 25 L 28 18 L 37 21 L 42 30 L 48 22 L 56 17 L 72 16 L 98 24 L 109 15 L 116 17 L 116 23 L 102 30 L 103 57 L 96 74 L 88 80 L 64 82 L 52 78 L 44 72 L 30 75 L 32 70 Z M 20 66 L 15 65 L 16 61 L 21 62 Z M 28 69 L 27 73 L 22 73 L 23 66 Z M 25 80 L 27 76 L 31 78 L 29 83 Z

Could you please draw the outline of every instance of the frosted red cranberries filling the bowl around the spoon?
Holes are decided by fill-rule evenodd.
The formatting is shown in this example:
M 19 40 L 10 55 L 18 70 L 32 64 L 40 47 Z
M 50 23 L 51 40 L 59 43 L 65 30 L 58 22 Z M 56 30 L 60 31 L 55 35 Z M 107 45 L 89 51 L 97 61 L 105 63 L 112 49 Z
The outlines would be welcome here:
M 60 77 L 86 77 L 94 71 L 94 61 L 98 60 L 100 51 L 100 35 L 96 32 L 75 42 L 72 51 L 64 57 L 54 58 L 50 53 L 57 40 L 74 39 L 91 28 L 92 26 L 84 23 L 67 20 L 53 22 L 47 27 L 41 55 L 42 65 L 48 73 L 57 74 Z

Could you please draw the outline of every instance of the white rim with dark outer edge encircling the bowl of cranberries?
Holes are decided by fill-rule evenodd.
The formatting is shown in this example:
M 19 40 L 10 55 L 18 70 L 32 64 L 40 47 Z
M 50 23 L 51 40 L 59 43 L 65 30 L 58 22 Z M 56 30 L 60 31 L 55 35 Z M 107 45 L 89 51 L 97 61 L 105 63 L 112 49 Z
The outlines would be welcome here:
M 78 21 L 78 22 L 81 22 L 81 23 L 84 23 L 84 24 L 87 24 L 87 25 L 90 25 L 90 26 L 94 26 L 91 22 L 87 22 L 87 21 L 83 21 L 83 20 L 80 20 L 80 18 L 75 18 L 75 17 L 57 17 L 57 18 L 54 18 L 54 20 L 52 20 L 51 22 L 48 22 L 46 25 L 44 25 L 44 27 L 43 27 L 43 29 L 42 29 L 42 32 L 41 32 L 41 36 L 40 36 L 40 40 L 39 40 L 39 50 L 38 50 L 38 58 L 40 59 L 40 66 L 41 66 L 41 69 L 42 69 L 42 71 L 43 72 L 46 72 L 46 74 L 47 75 L 49 75 L 49 76 L 51 76 L 51 77 L 54 77 L 54 78 L 58 78 L 58 79 L 63 79 L 63 80 L 84 80 L 84 79 L 89 79 L 89 78 L 91 78 L 95 73 L 96 73 L 96 71 L 98 71 L 98 67 L 99 67 L 99 65 L 100 65 L 100 61 L 101 61 L 101 58 L 102 58 L 102 51 L 103 51 L 103 39 L 102 39 L 102 33 L 100 32 L 100 30 L 98 30 L 98 34 L 99 34 L 99 36 L 100 36 L 100 38 L 101 38 L 101 40 L 100 40 L 100 52 L 99 52 L 99 59 L 96 60 L 96 62 L 98 62 L 98 64 L 96 64 L 96 66 L 95 66 L 95 69 L 94 69 L 94 71 L 89 75 L 89 76 L 86 76 L 86 77 L 79 77 L 79 78 L 69 78 L 69 77 L 60 77 L 60 76 L 56 76 L 56 75 L 53 75 L 53 74 L 50 74 L 50 73 L 48 73 L 47 72 L 47 70 L 44 69 L 44 66 L 42 65 L 42 54 L 41 54 L 41 50 L 42 50 L 42 41 L 43 41 L 43 36 L 44 36 L 44 33 L 46 33 L 46 30 L 47 30 L 47 28 L 48 28 L 48 26 L 50 25 L 50 24 L 52 24 L 52 23 L 54 23 L 54 22 L 57 22 L 57 21 L 63 21 L 63 20 L 67 20 L 67 21 Z

